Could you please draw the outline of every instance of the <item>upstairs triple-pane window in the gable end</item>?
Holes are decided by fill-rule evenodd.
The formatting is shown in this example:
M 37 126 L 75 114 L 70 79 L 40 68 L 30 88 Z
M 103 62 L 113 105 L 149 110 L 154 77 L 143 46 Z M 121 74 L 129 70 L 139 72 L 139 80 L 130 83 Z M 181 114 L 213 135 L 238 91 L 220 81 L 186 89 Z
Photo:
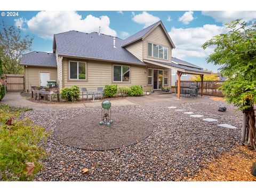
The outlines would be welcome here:
M 153 53 L 152 53 L 153 52 Z M 148 43 L 148 56 L 160 59 L 168 59 L 168 47 Z

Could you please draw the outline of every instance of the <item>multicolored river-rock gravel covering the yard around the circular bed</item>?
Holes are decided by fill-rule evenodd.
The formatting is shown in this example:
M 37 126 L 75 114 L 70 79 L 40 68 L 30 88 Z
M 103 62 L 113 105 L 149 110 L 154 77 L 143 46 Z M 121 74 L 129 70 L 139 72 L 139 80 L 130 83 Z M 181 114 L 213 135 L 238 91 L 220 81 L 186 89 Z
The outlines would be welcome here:
M 92 151 L 62 145 L 54 138 L 57 126 L 68 119 L 91 113 L 100 108 L 82 108 L 48 111 L 27 111 L 22 117 L 30 117 L 52 134 L 45 145 L 49 156 L 44 160 L 44 170 L 36 181 L 175 181 L 187 180 L 213 161 L 221 153 L 230 151 L 239 142 L 242 127 L 242 113 L 220 115 L 198 110 L 193 105 L 209 105 L 217 108 L 227 104 L 223 101 L 181 103 L 168 107 L 125 106 L 112 107 L 115 114 L 127 114 L 145 119 L 154 130 L 135 145 L 114 150 Z M 228 110 L 235 110 L 228 106 Z M 183 114 L 192 111 L 204 115 L 201 118 Z M 97 118 L 98 116 L 94 117 Z M 218 119 L 217 122 L 202 121 L 204 118 Z M 115 121 L 115 117 L 113 116 Z M 125 121 L 125 120 L 124 120 Z M 127 123 L 129 124 L 129 118 Z M 125 123 L 125 122 L 124 122 Z M 230 124 L 237 129 L 227 129 L 217 124 Z M 95 126 L 98 126 L 95 125 Z M 60 128 L 60 127 L 59 127 Z M 89 169 L 82 173 L 83 168 Z

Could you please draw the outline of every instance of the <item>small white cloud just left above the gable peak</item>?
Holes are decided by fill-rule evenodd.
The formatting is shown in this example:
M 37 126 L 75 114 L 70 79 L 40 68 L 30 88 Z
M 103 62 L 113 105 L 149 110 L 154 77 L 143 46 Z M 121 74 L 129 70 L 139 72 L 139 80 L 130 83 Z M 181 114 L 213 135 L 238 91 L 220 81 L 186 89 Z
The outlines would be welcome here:
M 143 11 L 140 14 L 135 15 L 134 12 L 132 12 L 132 20 L 139 23 L 140 25 L 144 25 L 144 28 L 152 25 L 153 23 L 160 20 L 160 18 L 154 16 L 153 14 L 149 14 L 146 11 Z

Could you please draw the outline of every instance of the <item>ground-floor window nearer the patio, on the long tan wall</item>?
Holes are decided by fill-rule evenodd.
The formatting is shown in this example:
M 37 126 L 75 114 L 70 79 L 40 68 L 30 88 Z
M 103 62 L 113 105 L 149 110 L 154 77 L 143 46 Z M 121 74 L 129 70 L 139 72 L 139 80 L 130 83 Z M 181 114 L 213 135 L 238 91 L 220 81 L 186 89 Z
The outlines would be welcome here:
M 113 82 L 130 82 L 130 66 L 113 66 Z

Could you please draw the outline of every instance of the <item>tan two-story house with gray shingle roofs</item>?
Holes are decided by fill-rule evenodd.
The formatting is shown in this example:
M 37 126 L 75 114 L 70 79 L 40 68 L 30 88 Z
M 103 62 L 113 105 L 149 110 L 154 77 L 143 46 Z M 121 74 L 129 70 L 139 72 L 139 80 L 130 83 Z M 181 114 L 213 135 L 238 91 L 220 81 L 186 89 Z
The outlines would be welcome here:
M 25 89 L 55 80 L 60 89 L 77 85 L 95 90 L 106 84 L 141 85 L 145 91 L 171 87 L 171 70 L 205 74 L 195 65 L 172 61 L 175 46 L 162 21 L 121 39 L 71 30 L 53 36 L 53 52 L 21 58 Z

